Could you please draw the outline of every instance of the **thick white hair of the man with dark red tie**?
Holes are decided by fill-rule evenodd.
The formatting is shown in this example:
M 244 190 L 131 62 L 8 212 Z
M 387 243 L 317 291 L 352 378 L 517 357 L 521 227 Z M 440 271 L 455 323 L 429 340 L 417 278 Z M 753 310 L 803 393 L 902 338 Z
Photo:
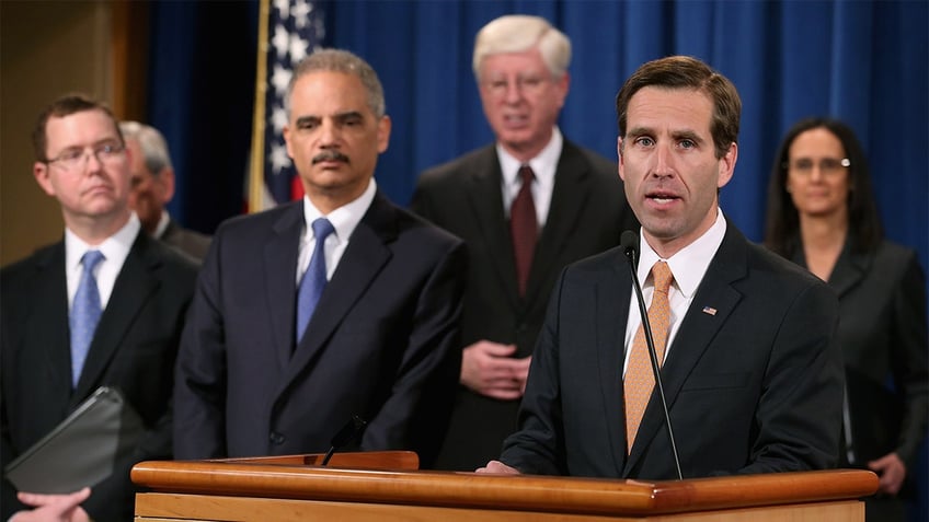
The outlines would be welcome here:
M 527 14 L 508 14 L 488 23 L 474 39 L 472 67 L 474 77 L 481 78 L 481 63 L 491 55 L 523 53 L 538 47 L 542 61 L 552 78 L 559 79 L 571 65 L 571 40 L 543 18 Z

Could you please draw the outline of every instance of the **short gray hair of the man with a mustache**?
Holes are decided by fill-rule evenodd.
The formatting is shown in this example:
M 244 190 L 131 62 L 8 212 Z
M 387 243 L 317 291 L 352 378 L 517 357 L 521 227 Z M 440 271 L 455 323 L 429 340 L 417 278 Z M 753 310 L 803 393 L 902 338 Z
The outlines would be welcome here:
M 284 98 L 284 108 L 290 117 L 290 98 L 294 95 L 294 85 L 301 77 L 311 72 L 344 72 L 354 74 L 362 80 L 362 85 L 368 93 L 368 107 L 378 118 L 387 114 L 383 101 L 383 86 L 371 66 L 357 55 L 341 49 L 320 49 L 300 60 L 294 69 L 294 76 L 287 84 L 287 96 Z

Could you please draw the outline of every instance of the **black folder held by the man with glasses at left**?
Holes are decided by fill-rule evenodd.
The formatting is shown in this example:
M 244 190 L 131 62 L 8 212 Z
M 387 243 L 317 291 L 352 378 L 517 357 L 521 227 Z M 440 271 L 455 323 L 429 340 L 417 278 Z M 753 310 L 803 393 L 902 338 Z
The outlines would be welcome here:
M 142 429 L 123 394 L 101 386 L 3 473 L 20 491 L 67 494 L 93 487 L 134 450 Z

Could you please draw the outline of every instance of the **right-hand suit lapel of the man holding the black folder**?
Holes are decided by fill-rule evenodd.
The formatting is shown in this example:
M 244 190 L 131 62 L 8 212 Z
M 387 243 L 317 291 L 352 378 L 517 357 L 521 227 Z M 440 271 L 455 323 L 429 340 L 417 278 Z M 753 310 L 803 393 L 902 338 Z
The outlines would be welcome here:
M 161 281 L 157 277 L 161 260 L 151 255 L 150 240 L 139 231 L 129 255 L 123 263 L 113 293 L 93 335 L 74 397 L 84 397 L 96 387 L 101 375 L 122 345 L 139 311 L 154 294 Z M 73 404 L 72 404 L 73 406 Z

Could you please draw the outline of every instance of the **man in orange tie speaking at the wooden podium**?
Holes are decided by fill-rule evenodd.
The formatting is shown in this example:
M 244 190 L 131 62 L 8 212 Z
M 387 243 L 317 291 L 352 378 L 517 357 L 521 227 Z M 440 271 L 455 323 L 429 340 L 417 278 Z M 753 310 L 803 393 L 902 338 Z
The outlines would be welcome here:
M 619 174 L 642 236 L 565 269 L 519 429 L 479 472 L 670 479 L 836 465 L 836 297 L 749 243 L 719 208 L 741 106 L 730 80 L 689 57 L 627 80 Z M 638 332 L 626 257 L 635 250 L 676 443 Z

